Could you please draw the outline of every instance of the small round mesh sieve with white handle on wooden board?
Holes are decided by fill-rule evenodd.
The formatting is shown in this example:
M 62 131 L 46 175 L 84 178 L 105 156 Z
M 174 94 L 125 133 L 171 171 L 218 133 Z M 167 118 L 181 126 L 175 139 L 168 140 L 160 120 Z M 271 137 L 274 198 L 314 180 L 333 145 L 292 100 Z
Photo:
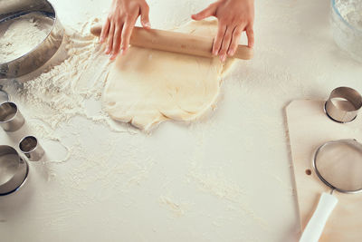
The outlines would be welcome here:
M 331 191 L 330 194 L 321 194 L 300 242 L 319 240 L 329 215 L 338 203 L 333 191 L 351 194 L 362 191 L 362 144 L 357 140 L 333 140 L 322 144 L 314 154 L 313 169 Z

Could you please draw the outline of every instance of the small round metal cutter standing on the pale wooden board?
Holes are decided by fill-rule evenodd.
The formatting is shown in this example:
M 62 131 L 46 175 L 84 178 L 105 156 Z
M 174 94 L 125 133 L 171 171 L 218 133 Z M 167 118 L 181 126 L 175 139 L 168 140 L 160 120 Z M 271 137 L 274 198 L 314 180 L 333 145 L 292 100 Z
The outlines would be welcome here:
M 324 110 L 332 121 L 354 121 L 362 107 L 362 96 L 350 87 L 338 87 L 329 95 Z

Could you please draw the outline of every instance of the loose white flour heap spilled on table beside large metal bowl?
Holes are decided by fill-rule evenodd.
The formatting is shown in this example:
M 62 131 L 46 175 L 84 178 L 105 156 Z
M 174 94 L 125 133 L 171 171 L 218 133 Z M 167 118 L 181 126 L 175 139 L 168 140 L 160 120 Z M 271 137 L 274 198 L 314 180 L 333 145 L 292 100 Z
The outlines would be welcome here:
M 14 102 L 30 107 L 24 109 L 26 117 L 41 120 L 53 130 L 77 115 L 108 121 L 102 111 L 99 115 L 86 112 L 87 100 L 100 99 L 110 64 L 87 26 L 81 32 L 66 28 L 62 46 L 52 60 L 42 70 L 17 80 Z

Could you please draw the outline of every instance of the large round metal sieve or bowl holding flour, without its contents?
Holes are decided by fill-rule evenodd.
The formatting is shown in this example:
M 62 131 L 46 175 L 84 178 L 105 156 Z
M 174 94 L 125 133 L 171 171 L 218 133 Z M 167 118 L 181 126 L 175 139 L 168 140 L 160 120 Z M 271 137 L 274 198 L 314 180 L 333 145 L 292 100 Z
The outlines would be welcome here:
M 43 42 L 22 56 L 2 63 L 0 60 L 0 79 L 9 79 L 31 73 L 52 58 L 62 44 L 64 30 L 55 9 L 46 0 L 0 0 L 0 25 L 16 21 L 28 14 L 42 15 L 52 21 Z M 0 36 L 1 37 L 1 36 Z M 24 39 L 26 41 L 26 39 Z

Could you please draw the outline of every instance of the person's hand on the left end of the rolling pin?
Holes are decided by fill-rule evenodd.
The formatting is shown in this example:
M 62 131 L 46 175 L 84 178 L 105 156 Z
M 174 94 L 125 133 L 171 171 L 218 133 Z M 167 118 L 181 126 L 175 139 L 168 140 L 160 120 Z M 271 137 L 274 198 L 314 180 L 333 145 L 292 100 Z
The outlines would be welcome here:
M 110 14 L 102 26 L 100 43 L 106 44 L 106 53 L 110 59 L 125 54 L 129 47 L 129 38 L 138 16 L 141 15 L 141 24 L 150 28 L 148 19 L 149 7 L 145 0 L 113 0 Z

